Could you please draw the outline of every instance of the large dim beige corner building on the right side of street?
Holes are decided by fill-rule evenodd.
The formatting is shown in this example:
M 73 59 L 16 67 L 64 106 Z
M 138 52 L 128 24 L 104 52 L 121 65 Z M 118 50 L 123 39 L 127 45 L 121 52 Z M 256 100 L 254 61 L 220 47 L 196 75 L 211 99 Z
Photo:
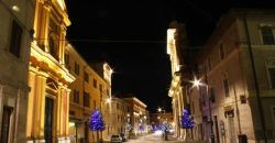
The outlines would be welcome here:
M 274 15 L 232 9 L 219 22 L 198 61 L 204 85 L 190 92 L 195 140 L 275 142 Z

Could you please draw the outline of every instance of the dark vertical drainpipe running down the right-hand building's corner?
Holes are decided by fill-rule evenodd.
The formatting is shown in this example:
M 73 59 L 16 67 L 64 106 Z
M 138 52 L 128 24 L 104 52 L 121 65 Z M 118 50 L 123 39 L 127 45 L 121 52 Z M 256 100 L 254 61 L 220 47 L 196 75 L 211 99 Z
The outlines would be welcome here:
M 257 101 L 257 107 L 258 107 L 258 112 L 260 112 L 260 122 L 261 122 L 262 129 L 263 129 L 264 143 L 267 143 L 266 132 L 265 132 L 266 131 L 265 118 L 264 118 L 264 113 L 263 113 L 262 100 L 260 97 L 260 87 L 258 87 L 258 80 L 257 80 L 257 76 L 256 76 L 256 68 L 255 68 L 255 62 L 254 62 L 254 57 L 253 57 L 253 50 L 251 46 L 251 38 L 250 38 L 250 33 L 249 33 L 249 28 L 248 28 L 246 15 L 243 16 L 243 22 L 244 22 L 244 26 L 245 26 L 245 34 L 246 34 L 248 45 L 249 45 L 249 54 L 250 54 L 253 80 L 255 82 L 256 101 Z

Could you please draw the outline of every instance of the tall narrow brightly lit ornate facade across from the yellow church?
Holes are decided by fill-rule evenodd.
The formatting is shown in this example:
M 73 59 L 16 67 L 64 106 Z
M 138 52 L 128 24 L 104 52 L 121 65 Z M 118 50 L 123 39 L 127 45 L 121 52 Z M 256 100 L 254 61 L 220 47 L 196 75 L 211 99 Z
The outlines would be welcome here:
M 168 96 L 172 98 L 175 131 L 179 139 L 186 136 L 184 130 L 180 128 L 180 117 L 183 116 L 184 108 L 187 107 L 187 87 L 185 84 L 189 79 L 189 75 L 185 75 L 184 73 L 184 70 L 187 70 L 183 56 L 183 50 L 187 45 L 186 41 L 185 25 L 173 21 L 167 30 L 167 54 L 170 57 L 172 66 L 172 81 Z

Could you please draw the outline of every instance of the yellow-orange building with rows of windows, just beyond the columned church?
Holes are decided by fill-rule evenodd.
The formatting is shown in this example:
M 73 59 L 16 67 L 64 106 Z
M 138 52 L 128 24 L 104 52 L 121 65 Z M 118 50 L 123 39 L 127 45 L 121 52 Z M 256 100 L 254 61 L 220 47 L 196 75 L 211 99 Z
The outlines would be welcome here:
M 69 86 L 72 89 L 69 100 L 69 136 L 72 142 L 96 142 L 97 133 L 90 130 L 91 112 L 101 110 L 106 121 L 106 130 L 100 139 L 108 140 L 107 120 L 109 116 L 111 98 L 112 69 L 107 63 L 87 64 L 72 44 L 66 44 L 65 65 L 76 80 Z

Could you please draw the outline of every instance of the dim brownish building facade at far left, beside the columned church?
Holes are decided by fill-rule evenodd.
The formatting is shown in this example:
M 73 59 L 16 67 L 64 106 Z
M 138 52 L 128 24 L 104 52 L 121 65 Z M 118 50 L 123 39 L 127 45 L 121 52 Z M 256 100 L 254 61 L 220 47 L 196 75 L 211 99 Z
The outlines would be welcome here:
M 0 142 L 26 142 L 28 69 L 34 0 L 0 1 Z

